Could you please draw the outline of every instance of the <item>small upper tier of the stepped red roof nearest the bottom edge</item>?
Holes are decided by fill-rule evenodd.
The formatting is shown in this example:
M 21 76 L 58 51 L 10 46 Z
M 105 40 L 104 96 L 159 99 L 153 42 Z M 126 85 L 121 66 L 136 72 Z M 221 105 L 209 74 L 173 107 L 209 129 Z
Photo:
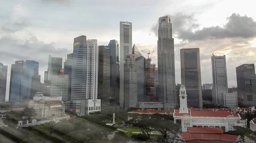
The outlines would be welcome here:
M 223 133 L 221 128 L 188 127 L 190 133 Z

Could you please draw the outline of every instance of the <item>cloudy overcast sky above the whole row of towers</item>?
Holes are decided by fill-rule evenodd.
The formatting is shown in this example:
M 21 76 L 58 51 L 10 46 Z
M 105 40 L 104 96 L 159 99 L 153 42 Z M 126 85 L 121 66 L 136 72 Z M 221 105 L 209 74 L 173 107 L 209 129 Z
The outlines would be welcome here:
M 73 51 L 73 38 L 85 35 L 98 45 L 119 42 L 119 22 L 132 22 L 132 42 L 155 50 L 157 21 L 170 15 L 175 37 L 175 74 L 180 83 L 180 48 L 200 48 L 202 84 L 212 83 L 211 56 L 226 54 L 228 86 L 236 67 L 256 62 L 255 0 L 0 0 L 0 62 L 39 62 L 43 82 L 49 54 Z M 142 53 L 145 57 L 147 54 Z

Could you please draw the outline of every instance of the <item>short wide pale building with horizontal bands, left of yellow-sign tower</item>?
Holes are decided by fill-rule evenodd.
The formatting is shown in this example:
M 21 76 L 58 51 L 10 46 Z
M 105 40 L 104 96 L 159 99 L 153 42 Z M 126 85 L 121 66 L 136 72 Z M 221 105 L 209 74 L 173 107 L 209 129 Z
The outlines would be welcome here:
M 70 77 L 52 76 L 51 80 L 51 96 L 62 97 L 62 101 L 70 101 Z

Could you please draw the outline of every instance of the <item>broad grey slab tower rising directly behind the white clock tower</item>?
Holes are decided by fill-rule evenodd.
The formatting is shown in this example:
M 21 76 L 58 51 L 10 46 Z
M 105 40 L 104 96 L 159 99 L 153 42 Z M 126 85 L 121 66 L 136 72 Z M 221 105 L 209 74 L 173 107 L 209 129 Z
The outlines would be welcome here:
M 188 106 L 203 107 L 199 48 L 180 49 L 181 84 L 186 87 Z

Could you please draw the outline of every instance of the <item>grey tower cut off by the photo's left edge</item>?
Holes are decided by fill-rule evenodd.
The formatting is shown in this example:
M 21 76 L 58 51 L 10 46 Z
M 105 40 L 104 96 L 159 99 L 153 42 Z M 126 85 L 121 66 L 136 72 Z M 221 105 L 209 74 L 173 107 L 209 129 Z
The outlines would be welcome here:
M 7 65 L 0 63 L 0 102 L 6 99 Z

